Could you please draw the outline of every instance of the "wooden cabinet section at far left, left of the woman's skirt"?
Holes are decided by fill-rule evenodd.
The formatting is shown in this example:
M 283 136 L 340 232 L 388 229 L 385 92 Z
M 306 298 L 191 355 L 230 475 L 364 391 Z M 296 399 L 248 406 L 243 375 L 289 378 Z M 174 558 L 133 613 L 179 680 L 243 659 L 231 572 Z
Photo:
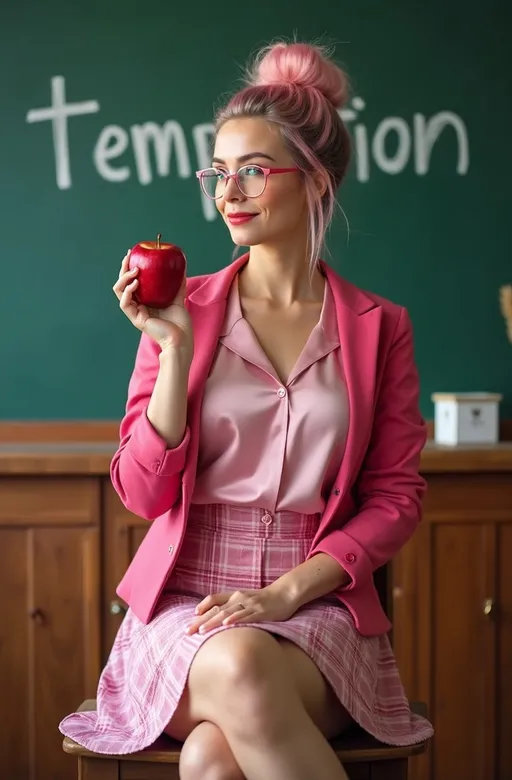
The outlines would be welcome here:
M 99 675 L 99 486 L 0 480 L 0 756 L 10 780 L 69 780 L 59 721 Z

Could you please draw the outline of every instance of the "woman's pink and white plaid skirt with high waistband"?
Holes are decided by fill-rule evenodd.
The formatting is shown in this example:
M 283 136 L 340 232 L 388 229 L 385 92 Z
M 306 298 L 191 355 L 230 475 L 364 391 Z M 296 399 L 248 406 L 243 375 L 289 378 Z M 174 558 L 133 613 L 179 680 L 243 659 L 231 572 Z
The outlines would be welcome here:
M 263 588 L 302 563 L 318 522 L 318 515 L 295 512 L 192 506 L 183 547 L 154 617 L 144 625 L 128 610 L 99 680 L 97 712 L 68 715 L 61 732 L 97 753 L 142 750 L 172 718 L 201 645 L 218 631 L 255 626 L 307 653 L 352 718 L 377 739 L 409 745 L 430 737 L 430 723 L 409 709 L 388 637 L 361 636 L 337 599 L 309 602 L 282 622 L 185 635 L 204 596 Z

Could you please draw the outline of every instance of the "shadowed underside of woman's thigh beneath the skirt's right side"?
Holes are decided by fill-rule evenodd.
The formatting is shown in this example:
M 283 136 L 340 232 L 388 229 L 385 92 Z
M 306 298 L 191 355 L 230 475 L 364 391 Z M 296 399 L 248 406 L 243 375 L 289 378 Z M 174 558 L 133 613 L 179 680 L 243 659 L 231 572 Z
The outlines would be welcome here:
M 315 662 L 294 642 L 277 637 L 304 708 L 317 728 L 328 739 L 341 734 L 352 718 Z

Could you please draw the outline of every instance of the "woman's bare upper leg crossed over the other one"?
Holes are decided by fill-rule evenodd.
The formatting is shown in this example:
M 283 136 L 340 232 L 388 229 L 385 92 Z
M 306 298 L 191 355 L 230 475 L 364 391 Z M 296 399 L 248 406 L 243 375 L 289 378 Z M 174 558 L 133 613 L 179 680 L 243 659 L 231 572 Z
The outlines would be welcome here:
M 259 629 L 216 634 L 198 651 L 187 695 L 166 730 L 186 739 L 202 721 L 215 724 L 247 780 L 346 780 L 308 714 L 289 657 L 274 637 Z M 345 711 L 339 707 L 331 715 L 339 719 L 332 724 L 333 733 L 340 732 L 347 725 Z

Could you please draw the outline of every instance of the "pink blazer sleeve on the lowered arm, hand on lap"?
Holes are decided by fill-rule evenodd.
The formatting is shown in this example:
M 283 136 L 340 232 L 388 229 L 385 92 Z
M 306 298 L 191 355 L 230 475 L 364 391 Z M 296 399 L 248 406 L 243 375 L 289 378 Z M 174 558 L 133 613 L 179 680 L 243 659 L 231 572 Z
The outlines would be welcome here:
M 419 411 L 412 326 L 401 310 L 383 369 L 370 443 L 355 482 L 356 514 L 315 546 L 351 577 L 351 590 L 388 563 L 420 519 L 426 482 L 419 474 L 427 438 Z

